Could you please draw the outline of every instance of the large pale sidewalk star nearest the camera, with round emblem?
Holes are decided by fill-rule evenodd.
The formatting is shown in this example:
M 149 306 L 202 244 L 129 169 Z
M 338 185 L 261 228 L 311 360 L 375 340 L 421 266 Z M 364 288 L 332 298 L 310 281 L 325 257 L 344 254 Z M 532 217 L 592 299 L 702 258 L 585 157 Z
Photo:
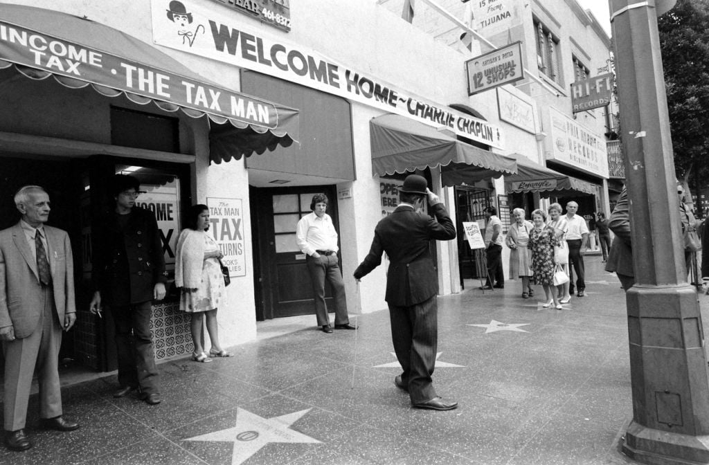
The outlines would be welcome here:
M 311 409 L 274 418 L 261 418 L 242 408 L 236 409 L 236 425 L 226 430 L 189 437 L 185 441 L 233 442 L 231 464 L 242 464 L 269 442 L 320 443 L 318 439 L 291 430 L 290 426 Z

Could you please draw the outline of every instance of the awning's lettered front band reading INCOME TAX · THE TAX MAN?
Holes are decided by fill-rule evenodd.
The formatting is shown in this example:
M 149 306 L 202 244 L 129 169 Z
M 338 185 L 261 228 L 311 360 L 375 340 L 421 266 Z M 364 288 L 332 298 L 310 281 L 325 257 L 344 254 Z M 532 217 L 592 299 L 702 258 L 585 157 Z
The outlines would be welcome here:
M 4 21 L 0 60 L 264 128 L 278 126 L 272 103 Z

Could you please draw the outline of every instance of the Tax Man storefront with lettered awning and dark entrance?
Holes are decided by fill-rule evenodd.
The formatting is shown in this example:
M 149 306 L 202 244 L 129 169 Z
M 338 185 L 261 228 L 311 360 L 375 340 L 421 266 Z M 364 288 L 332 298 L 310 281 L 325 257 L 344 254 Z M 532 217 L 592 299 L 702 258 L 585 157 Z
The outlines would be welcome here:
M 138 205 L 156 215 L 170 273 L 185 208 L 232 203 L 228 214 L 213 218 L 236 283 L 222 311 L 240 311 L 240 283 L 253 279 L 244 230 L 249 212 L 240 206 L 248 189 L 232 184 L 238 178 L 224 182 L 229 170 L 208 169 L 209 157 L 267 157 L 276 147 L 297 146 L 296 109 L 214 84 L 121 30 L 30 6 L 0 6 L 0 82 L 0 228 L 17 221 L 9 200 L 15 191 L 39 184 L 52 201 L 50 224 L 72 240 L 77 324 L 64 338 L 62 359 L 115 368 L 111 314 L 88 312 L 91 230 L 112 206 L 113 174 L 140 179 L 145 194 Z M 252 299 L 250 285 L 242 287 Z M 250 336 L 239 320 L 222 322 L 225 344 Z M 155 306 L 152 330 L 157 359 L 191 351 L 189 318 L 174 297 Z

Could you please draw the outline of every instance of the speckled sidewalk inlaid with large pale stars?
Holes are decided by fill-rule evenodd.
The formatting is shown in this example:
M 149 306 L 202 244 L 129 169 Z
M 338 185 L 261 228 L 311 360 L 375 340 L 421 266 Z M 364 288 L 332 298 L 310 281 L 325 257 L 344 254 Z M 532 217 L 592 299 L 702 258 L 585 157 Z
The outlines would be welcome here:
M 357 332 L 313 324 L 230 359 L 161 364 L 160 405 L 114 399 L 115 376 L 67 386 L 75 432 L 39 430 L 33 396 L 34 447 L 0 447 L 0 464 L 635 463 L 618 452 L 632 418 L 625 296 L 601 257 L 586 270 L 588 296 L 564 310 L 541 307 L 541 286 L 520 298 L 519 281 L 439 298 L 433 379 L 457 410 L 412 409 L 394 386 L 382 310 Z

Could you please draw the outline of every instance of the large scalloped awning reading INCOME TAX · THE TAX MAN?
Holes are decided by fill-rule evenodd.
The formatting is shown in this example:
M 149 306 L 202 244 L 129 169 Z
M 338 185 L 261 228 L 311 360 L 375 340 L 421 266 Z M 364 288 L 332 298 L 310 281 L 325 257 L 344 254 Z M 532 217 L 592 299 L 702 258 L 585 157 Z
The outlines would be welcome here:
M 229 157 L 298 140 L 294 108 L 213 84 L 120 30 L 67 13 L 1 4 L 0 32 L 0 69 L 14 66 L 31 79 L 52 76 L 72 89 L 91 85 L 104 96 L 125 94 L 135 103 L 153 102 L 192 118 L 206 115 L 245 141 Z

